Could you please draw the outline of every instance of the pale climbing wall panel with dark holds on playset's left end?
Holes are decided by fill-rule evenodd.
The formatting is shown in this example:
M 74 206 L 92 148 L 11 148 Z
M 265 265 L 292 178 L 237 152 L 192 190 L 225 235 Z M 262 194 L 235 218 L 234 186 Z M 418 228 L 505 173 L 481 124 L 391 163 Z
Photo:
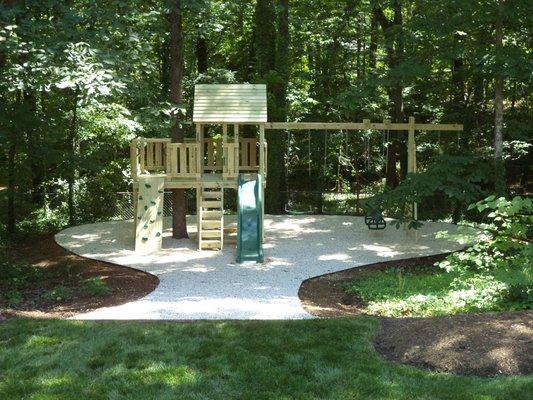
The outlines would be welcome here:
M 164 186 L 164 175 L 139 176 L 135 251 L 149 253 L 161 249 Z

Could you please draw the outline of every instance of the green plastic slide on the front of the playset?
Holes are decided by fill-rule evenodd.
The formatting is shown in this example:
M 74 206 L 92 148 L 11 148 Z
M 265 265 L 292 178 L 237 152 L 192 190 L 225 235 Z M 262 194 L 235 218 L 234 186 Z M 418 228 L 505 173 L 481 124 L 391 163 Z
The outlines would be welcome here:
M 263 262 L 263 199 L 260 174 L 239 174 L 237 262 Z

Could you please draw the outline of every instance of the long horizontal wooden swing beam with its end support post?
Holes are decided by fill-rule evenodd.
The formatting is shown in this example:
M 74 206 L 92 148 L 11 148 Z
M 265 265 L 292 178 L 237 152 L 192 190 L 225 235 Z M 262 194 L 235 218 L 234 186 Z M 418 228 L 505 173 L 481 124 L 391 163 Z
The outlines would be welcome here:
M 343 130 L 343 131 L 407 131 L 407 172 L 416 173 L 416 131 L 439 131 L 439 132 L 461 132 L 462 124 L 428 124 L 416 123 L 415 117 L 409 117 L 409 122 L 391 123 L 389 120 L 383 122 L 370 122 L 364 119 L 363 122 L 267 122 L 265 129 L 270 130 Z M 413 204 L 413 217 L 418 219 L 418 205 Z

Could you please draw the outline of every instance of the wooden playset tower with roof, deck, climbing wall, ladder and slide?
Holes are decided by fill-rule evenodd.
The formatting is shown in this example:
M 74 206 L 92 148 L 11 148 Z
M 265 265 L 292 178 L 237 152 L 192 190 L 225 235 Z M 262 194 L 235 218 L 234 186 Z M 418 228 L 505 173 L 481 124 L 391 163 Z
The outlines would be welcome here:
M 266 121 L 265 85 L 196 85 L 196 138 L 183 143 L 170 138 L 133 140 L 136 251 L 161 248 L 165 190 L 190 188 L 196 189 L 198 248 L 222 250 L 224 191 L 235 189 L 237 259 L 261 262 Z M 241 129 L 246 137 L 241 137 Z

